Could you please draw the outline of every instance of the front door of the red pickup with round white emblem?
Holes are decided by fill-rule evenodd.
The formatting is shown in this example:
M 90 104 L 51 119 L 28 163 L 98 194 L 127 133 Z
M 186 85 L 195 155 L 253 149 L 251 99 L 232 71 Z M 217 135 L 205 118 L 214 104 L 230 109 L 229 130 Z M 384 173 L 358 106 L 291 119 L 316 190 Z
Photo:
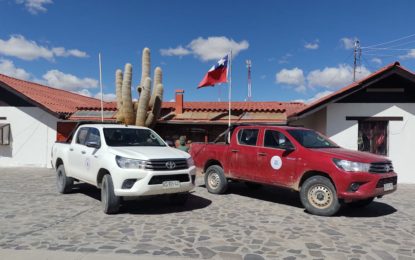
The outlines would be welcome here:
M 260 182 L 289 186 L 296 171 L 296 151 L 292 142 L 280 131 L 267 129 L 258 148 L 256 179 Z

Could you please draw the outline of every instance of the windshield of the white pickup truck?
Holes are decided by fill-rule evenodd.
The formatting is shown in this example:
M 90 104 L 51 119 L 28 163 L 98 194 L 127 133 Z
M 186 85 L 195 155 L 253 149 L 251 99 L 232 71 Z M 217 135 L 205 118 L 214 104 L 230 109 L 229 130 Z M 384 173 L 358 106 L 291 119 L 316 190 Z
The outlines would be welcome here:
M 149 129 L 104 128 L 108 146 L 166 146 L 163 140 Z

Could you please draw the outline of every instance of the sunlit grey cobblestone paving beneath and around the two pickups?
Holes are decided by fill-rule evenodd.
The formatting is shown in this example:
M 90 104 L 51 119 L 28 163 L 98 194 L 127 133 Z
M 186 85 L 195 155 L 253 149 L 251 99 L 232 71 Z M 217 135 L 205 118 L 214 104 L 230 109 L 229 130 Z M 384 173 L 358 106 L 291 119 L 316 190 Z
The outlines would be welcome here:
M 204 259 L 415 259 L 415 185 L 365 209 L 335 217 L 307 214 L 295 192 L 228 194 L 201 186 L 186 206 L 165 198 L 101 212 L 97 189 L 59 195 L 52 170 L 0 168 L 0 248 L 167 255 Z

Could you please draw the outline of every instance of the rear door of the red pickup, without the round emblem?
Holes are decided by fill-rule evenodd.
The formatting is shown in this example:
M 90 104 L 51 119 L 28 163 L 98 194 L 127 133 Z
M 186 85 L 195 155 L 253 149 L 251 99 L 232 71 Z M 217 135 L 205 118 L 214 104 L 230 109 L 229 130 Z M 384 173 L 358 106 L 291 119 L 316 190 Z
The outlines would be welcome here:
M 257 169 L 257 142 L 259 129 L 241 128 L 230 147 L 231 176 L 237 179 L 253 180 Z

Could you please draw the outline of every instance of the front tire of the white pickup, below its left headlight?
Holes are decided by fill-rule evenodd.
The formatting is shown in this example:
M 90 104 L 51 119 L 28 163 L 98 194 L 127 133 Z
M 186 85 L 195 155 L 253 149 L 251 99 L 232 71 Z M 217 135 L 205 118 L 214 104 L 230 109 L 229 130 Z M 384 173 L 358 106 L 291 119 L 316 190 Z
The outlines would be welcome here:
M 121 197 L 114 194 L 114 184 L 111 175 L 106 174 L 101 185 L 101 206 L 105 214 L 118 213 Z

